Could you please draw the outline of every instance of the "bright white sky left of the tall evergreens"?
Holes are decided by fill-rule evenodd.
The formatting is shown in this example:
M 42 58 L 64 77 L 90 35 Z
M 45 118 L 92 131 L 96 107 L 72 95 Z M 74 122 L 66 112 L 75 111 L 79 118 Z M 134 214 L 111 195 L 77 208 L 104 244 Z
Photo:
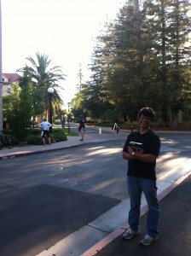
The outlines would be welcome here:
M 3 73 L 15 73 L 36 58 L 49 55 L 49 67 L 61 66 L 66 80 L 62 100 L 77 92 L 81 64 L 89 80 L 90 57 L 107 20 L 114 20 L 124 0 L 1 0 Z

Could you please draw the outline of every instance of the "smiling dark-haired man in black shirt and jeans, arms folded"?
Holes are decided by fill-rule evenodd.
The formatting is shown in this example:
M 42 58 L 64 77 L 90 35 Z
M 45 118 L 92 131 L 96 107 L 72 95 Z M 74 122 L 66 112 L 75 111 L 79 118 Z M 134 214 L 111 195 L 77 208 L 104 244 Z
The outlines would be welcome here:
M 139 111 L 138 131 L 133 131 L 124 143 L 123 159 L 128 160 L 127 188 L 130 195 L 129 225 L 124 239 L 140 234 L 140 212 L 142 193 L 148 203 L 147 233 L 140 241 L 144 246 L 158 239 L 159 201 L 156 187 L 156 159 L 159 155 L 160 139 L 151 130 L 153 109 L 142 108 Z

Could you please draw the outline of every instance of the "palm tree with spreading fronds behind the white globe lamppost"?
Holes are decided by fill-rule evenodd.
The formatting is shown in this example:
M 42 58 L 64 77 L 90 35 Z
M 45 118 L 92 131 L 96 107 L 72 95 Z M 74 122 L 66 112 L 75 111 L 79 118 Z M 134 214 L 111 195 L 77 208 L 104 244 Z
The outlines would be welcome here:
M 65 80 L 65 74 L 62 73 L 61 66 L 55 66 L 49 68 L 49 55 L 41 55 L 36 53 L 37 62 L 32 57 L 27 57 L 26 60 L 30 61 L 31 65 L 21 67 L 17 72 L 27 73 L 31 76 L 32 82 L 35 87 L 43 89 L 44 94 L 44 116 L 48 116 L 49 109 L 49 95 L 48 88 L 54 88 L 55 92 L 52 96 L 52 103 L 55 102 L 63 103 L 58 89 L 63 90 L 59 85 L 59 81 Z

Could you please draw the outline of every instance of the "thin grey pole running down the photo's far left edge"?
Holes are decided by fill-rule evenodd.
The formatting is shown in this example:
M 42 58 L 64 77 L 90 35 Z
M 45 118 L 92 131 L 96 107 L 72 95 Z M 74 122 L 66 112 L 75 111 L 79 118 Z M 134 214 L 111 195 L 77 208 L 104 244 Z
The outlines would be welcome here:
M 0 0 L 0 134 L 3 132 L 2 3 Z

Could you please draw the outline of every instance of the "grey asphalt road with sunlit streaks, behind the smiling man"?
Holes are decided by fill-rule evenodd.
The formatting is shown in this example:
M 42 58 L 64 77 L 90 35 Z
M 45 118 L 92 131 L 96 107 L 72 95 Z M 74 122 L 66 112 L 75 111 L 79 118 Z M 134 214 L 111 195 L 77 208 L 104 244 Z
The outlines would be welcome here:
M 34 256 L 125 200 L 125 137 L 2 161 L 0 255 Z M 158 177 L 190 157 L 191 135 L 159 137 Z

